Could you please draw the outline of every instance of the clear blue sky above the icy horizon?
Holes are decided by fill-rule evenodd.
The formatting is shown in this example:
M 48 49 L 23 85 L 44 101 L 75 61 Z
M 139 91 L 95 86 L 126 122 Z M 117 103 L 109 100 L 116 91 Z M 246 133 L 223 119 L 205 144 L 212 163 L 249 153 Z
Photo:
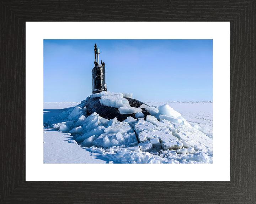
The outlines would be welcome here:
M 92 92 L 94 45 L 110 92 L 139 101 L 213 101 L 213 40 L 44 40 L 44 102 Z

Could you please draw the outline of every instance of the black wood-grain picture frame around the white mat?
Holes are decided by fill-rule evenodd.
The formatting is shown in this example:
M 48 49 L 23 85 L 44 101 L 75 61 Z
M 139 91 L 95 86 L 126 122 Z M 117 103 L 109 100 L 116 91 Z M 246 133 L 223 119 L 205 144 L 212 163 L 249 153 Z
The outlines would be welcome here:
M 256 203 L 255 2 L 2 0 L 0 202 Z M 230 182 L 26 182 L 26 21 L 229 21 Z

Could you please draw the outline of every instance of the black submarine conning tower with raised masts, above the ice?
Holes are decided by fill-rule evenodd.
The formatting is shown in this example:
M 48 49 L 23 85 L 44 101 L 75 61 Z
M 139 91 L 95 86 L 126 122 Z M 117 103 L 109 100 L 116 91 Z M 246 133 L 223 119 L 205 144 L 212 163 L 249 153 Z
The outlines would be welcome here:
M 94 68 L 92 69 L 92 94 L 107 91 L 105 62 L 99 64 L 100 49 L 94 46 Z

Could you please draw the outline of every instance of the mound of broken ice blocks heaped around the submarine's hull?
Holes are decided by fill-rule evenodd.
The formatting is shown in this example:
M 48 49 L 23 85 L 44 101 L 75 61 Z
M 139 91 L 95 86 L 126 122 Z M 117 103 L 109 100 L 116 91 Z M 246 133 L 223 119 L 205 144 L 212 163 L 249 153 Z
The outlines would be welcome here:
M 211 131 L 198 124 L 190 125 L 167 104 L 134 108 L 123 96 L 103 91 L 90 97 L 101 97 L 105 106 L 119 108 L 122 114 L 134 113 L 137 119 L 128 117 L 119 122 L 117 118 L 107 120 L 97 113 L 87 115 L 84 100 L 44 126 L 69 132 L 78 145 L 101 154 L 110 163 L 213 162 Z M 145 120 L 142 109 L 150 113 Z

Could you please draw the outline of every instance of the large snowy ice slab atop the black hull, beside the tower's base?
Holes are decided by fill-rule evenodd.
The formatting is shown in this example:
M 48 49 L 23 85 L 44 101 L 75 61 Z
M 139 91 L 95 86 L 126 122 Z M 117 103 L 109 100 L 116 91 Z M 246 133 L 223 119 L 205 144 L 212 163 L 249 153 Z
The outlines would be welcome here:
M 100 102 L 105 106 L 111 106 L 114 108 L 130 107 L 129 101 L 123 97 L 121 93 L 108 93 L 101 96 Z

